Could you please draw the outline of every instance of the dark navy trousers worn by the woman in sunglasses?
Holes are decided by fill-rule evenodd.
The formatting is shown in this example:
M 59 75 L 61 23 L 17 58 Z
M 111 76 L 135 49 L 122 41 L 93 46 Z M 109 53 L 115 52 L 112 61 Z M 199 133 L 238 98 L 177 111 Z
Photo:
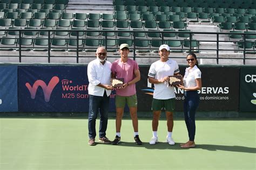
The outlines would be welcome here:
M 194 141 L 194 136 L 196 134 L 195 115 L 199 105 L 199 95 L 197 91 L 185 91 L 184 96 L 184 117 L 188 137 L 190 138 L 190 141 Z

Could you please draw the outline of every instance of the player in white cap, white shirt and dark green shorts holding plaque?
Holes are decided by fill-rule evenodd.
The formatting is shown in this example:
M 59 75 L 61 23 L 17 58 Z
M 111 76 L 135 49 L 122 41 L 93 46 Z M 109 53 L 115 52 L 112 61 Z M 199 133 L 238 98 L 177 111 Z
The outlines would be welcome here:
M 179 74 L 178 63 L 169 59 L 170 47 L 168 45 L 161 45 L 158 54 L 160 60 L 153 62 L 149 70 L 149 82 L 154 83 L 154 93 L 152 100 L 153 121 L 152 130 L 153 137 L 150 140 L 150 145 L 158 142 L 158 121 L 161 115 L 161 110 L 165 109 L 167 118 L 167 137 L 166 142 L 169 145 L 174 145 L 172 139 L 173 129 L 173 111 L 175 110 L 175 93 L 174 87 L 169 87 L 169 76 Z

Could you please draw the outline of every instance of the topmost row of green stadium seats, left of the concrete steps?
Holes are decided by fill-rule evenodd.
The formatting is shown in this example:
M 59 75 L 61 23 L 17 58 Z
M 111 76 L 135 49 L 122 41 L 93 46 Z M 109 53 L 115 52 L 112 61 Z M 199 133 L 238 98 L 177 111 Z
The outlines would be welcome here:
M 68 4 L 69 0 L 0 0 L 5 4 Z

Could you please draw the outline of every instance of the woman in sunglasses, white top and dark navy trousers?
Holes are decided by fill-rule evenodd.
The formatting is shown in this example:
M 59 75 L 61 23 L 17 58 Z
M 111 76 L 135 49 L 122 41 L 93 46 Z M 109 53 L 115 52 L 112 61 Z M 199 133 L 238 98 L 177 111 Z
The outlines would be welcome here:
M 184 86 L 179 85 L 178 88 L 184 89 L 184 117 L 187 126 L 189 140 L 180 147 L 195 147 L 194 136 L 196 134 L 195 115 L 199 105 L 198 91 L 202 87 L 201 71 L 198 68 L 197 56 L 194 53 L 187 55 L 188 66 L 184 75 Z

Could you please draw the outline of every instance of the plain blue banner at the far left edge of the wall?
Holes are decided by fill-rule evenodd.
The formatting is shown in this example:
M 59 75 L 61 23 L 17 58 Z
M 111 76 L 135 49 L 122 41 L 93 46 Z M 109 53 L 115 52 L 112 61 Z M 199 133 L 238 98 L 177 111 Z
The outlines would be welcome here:
M 0 66 L 0 112 L 18 111 L 17 66 Z

